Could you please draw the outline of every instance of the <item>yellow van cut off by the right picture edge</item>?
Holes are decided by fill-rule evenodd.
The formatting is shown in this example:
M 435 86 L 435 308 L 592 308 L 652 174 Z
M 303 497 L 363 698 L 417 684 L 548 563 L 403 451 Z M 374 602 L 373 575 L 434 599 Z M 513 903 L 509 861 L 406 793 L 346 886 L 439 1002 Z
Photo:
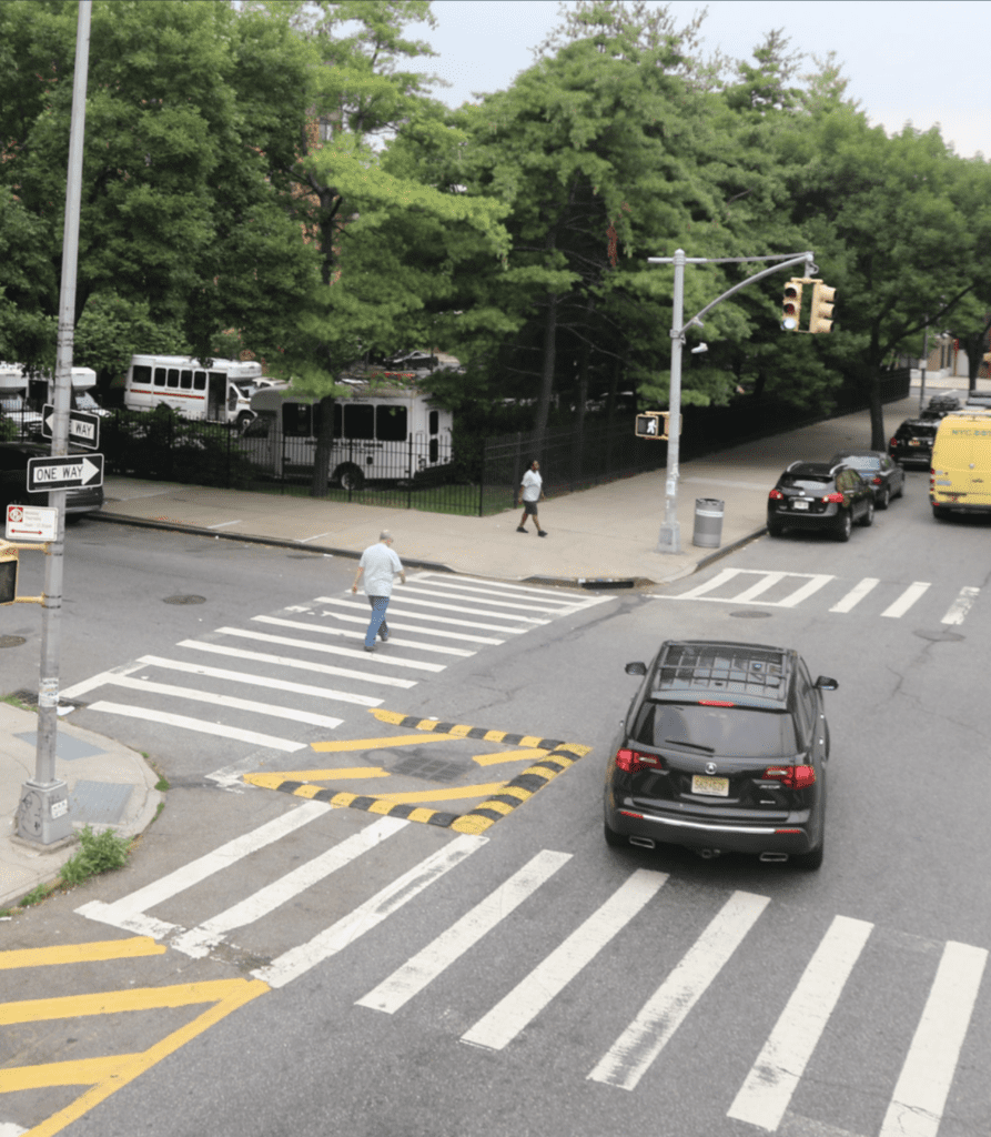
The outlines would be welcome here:
M 930 459 L 930 503 L 934 517 L 951 509 L 991 513 L 991 415 L 947 415 Z

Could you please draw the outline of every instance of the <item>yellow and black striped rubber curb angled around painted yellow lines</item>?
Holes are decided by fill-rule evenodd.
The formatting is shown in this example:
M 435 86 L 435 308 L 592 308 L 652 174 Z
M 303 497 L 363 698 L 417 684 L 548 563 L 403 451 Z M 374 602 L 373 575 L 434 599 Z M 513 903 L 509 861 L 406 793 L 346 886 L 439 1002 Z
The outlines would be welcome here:
M 591 749 L 590 746 L 566 742 L 558 738 L 513 735 L 505 730 L 488 730 L 484 727 L 440 722 L 436 719 L 414 719 L 395 711 L 373 709 L 370 713 L 380 722 L 403 727 L 407 730 L 423 730 L 433 735 L 443 735 L 445 738 L 474 738 L 486 742 L 506 742 L 510 746 L 547 750 L 547 754 L 534 765 L 524 770 L 522 774 L 517 774 L 516 778 L 507 782 L 500 792 L 463 814 L 427 810 L 408 803 L 383 802 L 369 795 L 339 792 L 318 786 L 316 782 L 292 779 L 275 785 L 266 782 L 266 788 L 277 790 L 280 794 L 305 797 L 310 802 L 324 802 L 339 808 L 363 810 L 366 813 L 377 813 L 390 818 L 405 818 L 408 821 L 419 821 L 440 829 L 451 829 L 458 833 L 482 833 L 490 825 L 494 825 L 500 818 L 511 813 L 523 802 L 528 802 L 539 789 L 547 786 L 559 773 L 564 773 Z M 245 774 L 244 780 L 252 781 L 253 777 Z

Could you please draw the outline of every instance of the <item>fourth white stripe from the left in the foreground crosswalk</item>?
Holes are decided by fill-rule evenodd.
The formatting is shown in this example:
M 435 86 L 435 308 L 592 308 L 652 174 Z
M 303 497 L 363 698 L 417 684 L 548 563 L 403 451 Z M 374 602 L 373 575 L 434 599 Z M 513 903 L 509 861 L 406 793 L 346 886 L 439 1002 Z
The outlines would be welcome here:
M 359 998 L 356 1006 L 367 1006 L 373 1011 L 394 1014 L 436 977 L 459 960 L 469 947 L 492 931 L 506 916 L 514 912 L 527 897 L 549 880 L 558 869 L 571 861 L 571 853 L 553 853 L 541 849 L 518 872 L 501 883 L 470 912 L 461 916 L 445 932 L 428 944 L 422 952 L 393 971 L 374 990 Z

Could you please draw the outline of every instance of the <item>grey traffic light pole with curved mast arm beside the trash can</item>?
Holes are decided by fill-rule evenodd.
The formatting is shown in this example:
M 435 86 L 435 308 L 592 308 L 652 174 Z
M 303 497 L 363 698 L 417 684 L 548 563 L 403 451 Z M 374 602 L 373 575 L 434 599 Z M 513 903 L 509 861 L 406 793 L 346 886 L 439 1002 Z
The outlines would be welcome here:
M 684 281 L 685 265 L 726 265 L 743 264 L 753 260 L 776 260 L 777 264 L 763 272 L 748 276 L 746 281 L 734 284 L 722 296 L 716 297 L 711 304 L 707 304 L 701 312 L 686 323 L 682 324 L 684 316 Z M 780 273 L 783 268 L 791 268 L 794 265 L 805 264 L 806 275 L 811 275 L 816 267 L 811 252 L 786 252 L 782 256 L 768 257 L 686 257 L 684 249 L 675 249 L 673 257 L 648 257 L 650 265 L 674 265 L 674 304 L 671 321 L 671 392 L 668 396 L 668 410 L 671 412 L 672 429 L 671 438 L 667 442 L 667 474 L 664 482 L 664 521 L 660 525 L 660 534 L 657 539 L 655 553 L 681 553 L 681 525 L 677 520 L 677 483 L 681 476 L 678 471 L 678 458 L 681 456 L 681 356 L 682 347 L 685 342 L 685 330 L 692 324 L 702 326 L 701 317 L 722 304 L 727 297 L 739 292 L 740 289 L 763 280 L 772 273 Z

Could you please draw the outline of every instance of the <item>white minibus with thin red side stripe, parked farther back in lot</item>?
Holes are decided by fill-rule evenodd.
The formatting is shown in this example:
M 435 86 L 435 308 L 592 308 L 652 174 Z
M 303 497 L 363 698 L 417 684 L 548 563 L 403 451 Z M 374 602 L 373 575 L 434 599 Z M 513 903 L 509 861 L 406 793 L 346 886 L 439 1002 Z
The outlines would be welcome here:
M 124 406 L 128 410 L 166 406 L 184 418 L 236 422 L 243 428 L 255 417 L 251 395 L 259 379 L 260 363 L 215 359 L 207 368 L 186 356 L 132 356 Z

